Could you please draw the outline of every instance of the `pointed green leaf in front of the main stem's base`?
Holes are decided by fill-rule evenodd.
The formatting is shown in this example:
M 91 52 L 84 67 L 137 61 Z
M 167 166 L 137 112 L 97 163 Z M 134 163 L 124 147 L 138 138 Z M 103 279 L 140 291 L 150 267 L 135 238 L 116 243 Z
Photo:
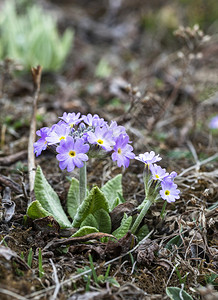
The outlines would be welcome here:
M 98 187 L 93 187 L 89 195 L 77 209 L 77 213 L 74 217 L 72 226 L 80 227 L 81 223 L 89 214 L 94 214 L 101 208 L 109 213 L 109 205 L 104 194 Z

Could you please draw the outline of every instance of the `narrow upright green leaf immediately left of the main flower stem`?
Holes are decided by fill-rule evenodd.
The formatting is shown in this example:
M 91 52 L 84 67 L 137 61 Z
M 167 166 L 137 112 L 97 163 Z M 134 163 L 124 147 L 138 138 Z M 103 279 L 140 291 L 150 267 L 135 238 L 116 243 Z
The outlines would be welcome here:
M 72 219 L 75 217 L 79 205 L 79 181 L 76 178 L 72 178 L 71 185 L 67 194 L 67 211 Z

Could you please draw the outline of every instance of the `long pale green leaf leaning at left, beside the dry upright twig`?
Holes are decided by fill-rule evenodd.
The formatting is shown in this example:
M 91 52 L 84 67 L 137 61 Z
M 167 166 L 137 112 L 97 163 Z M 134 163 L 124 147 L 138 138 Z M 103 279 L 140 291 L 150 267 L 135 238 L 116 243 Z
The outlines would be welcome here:
M 72 227 L 61 206 L 58 195 L 46 180 L 40 166 L 38 166 L 36 170 L 34 192 L 36 200 L 40 202 L 44 210 L 55 218 L 62 228 Z

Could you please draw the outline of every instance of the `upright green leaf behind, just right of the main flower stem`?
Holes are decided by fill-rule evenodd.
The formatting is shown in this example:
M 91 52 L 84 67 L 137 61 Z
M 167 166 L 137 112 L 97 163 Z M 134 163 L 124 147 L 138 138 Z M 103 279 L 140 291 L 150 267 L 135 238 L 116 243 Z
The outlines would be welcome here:
M 122 189 L 122 174 L 118 174 L 114 178 L 110 179 L 102 188 L 110 207 L 110 211 L 115 207 L 114 203 L 117 203 L 117 197 L 120 199 L 120 195 L 123 195 Z M 121 201 L 118 203 L 122 203 Z

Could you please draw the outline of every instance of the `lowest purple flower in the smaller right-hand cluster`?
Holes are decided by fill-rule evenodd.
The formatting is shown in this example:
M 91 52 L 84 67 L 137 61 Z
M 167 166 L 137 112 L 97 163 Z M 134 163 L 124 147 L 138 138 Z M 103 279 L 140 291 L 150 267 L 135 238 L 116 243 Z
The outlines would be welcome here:
M 175 184 L 170 179 L 165 179 L 161 182 L 162 190 L 160 190 L 161 197 L 167 202 L 175 202 L 179 199 L 180 190 L 177 189 L 177 184 Z

